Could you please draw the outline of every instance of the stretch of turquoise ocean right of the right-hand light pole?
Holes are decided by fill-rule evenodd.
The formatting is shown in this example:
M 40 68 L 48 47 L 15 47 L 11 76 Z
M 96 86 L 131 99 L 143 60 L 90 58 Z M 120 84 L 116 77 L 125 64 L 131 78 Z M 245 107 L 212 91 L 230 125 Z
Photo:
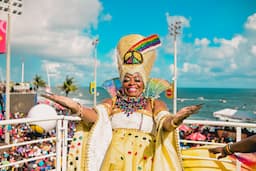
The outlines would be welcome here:
M 178 89 L 178 103 L 183 106 L 204 103 L 198 114 L 192 119 L 217 120 L 213 112 L 224 109 L 239 109 L 256 114 L 256 89 L 228 89 L 228 88 L 180 88 Z

